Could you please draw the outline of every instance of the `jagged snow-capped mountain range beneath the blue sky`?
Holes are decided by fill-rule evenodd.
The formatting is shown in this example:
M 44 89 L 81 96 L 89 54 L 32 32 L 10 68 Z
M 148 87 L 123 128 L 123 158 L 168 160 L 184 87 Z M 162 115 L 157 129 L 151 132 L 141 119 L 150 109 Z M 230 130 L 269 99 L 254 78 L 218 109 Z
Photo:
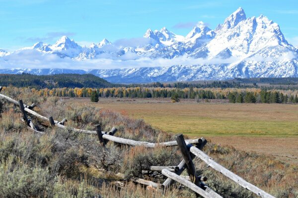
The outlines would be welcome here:
M 34 53 L 33 58 L 42 57 L 38 61 L 24 61 L 24 64 L 15 60 L 34 51 L 38 53 Z M 67 70 L 62 66 L 59 69 L 26 69 L 38 68 L 38 63 L 43 63 L 47 55 L 50 57 L 47 60 L 87 65 L 88 69 L 72 70 L 73 73 L 92 73 L 111 82 L 298 77 L 298 49 L 288 43 L 279 25 L 263 15 L 247 18 L 241 7 L 216 29 L 211 30 L 200 21 L 186 36 L 176 35 L 163 27 L 154 31 L 148 29 L 143 39 L 131 42 L 113 44 L 104 39 L 85 47 L 64 36 L 54 45 L 39 42 L 12 52 L 0 49 L 0 67 L 6 68 L 0 73 L 70 71 L 69 66 Z M 118 69 L 97 68 L 105 64 L 114 68 L 116 65 Z M 46 63 L 42 65 L 47 66 Z

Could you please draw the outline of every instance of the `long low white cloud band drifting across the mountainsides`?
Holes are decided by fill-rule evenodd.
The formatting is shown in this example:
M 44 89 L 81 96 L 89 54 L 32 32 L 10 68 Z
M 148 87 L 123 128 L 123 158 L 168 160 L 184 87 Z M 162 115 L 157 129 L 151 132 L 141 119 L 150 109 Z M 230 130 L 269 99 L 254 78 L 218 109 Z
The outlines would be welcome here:
M 105 56 L 105 57 L 104 57 Z M 236 61 L 229 59 L 194 59 L 180 56 L 173 59 L 149 57 L 140 58 L 132 52 L 127 52 L 120 57 L 111 58 L 105 54 L 98 59 L 78 61 L 71 58 L 60 58 L 55 54 L 42 53 L 37 50 L 19 50 L 0 58 L 0 68 L 71 68 L 71 69 L 115 69 L 115 68 L 139 68 L 139 67 L 169 67 L 172 65 L 197 65 L 197 64 L 229 64 Z

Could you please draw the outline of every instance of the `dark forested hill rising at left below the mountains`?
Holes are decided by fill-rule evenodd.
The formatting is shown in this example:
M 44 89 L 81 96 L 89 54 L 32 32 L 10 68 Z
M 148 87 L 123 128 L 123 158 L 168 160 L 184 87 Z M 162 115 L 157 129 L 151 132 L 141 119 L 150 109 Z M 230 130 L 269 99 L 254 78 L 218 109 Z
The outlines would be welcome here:
M 30 87 L 30 88 L 107 88 L 119 85 L 94 76 L 92 74 L 55 74 L 55 75 L 32 75 L 32 74 L 0 74 L 0 85 L 7 87 Z

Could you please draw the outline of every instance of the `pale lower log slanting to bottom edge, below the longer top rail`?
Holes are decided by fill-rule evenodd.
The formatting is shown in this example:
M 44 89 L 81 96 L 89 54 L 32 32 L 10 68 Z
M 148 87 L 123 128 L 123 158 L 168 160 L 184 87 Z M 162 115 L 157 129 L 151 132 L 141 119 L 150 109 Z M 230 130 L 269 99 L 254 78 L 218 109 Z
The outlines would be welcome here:
M 170 172 L 166 169 L 163 169 L 161 171 L 161 173 L 168 177 L 171 178 L 172 180 L 175 180 L 176 182 L 179 182 L 181 184 L 183 184 L 184 186 L 190 188 L 191 190 L 193 190 L 194 192 L 196 192 L 197 194 L 199 194 L 200 196 L 202 196 L 203 198 L 214 198 L 212 195 L 210 195 L 209 193 L 207 193 L 206 191 L 204 191 L 203 189 L 201 189 L 200 187 L 198 187 L 197 185 L 195 185 L 194 183 L 184 179 L 183 177 Z

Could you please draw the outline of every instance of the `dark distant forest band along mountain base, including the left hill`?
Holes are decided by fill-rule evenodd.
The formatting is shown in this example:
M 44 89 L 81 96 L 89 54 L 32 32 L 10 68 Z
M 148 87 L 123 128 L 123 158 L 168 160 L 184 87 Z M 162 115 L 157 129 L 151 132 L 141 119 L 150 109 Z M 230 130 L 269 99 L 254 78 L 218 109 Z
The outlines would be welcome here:
M 298 78 L 236 78 L 228 81 L 198 81 L 198 82 L 173 82 L 173 83 L 147 83 L 147 84 L 113 84 L 92 74 L 55 74 L 55 75 L 32 75 L 32 74 L 0 74 L 0 86 L 2 87 L 28 87 L 34 89 L 53 88 L 112 88 L 112 87 L 143 87 L 143 88 L 262 88 L 276 89 L 275 87 L 262 87 L 259 84 L 284 85 L 279 89 L 296 90 Z M 286 86 L 285 86 L 286 85 Z

